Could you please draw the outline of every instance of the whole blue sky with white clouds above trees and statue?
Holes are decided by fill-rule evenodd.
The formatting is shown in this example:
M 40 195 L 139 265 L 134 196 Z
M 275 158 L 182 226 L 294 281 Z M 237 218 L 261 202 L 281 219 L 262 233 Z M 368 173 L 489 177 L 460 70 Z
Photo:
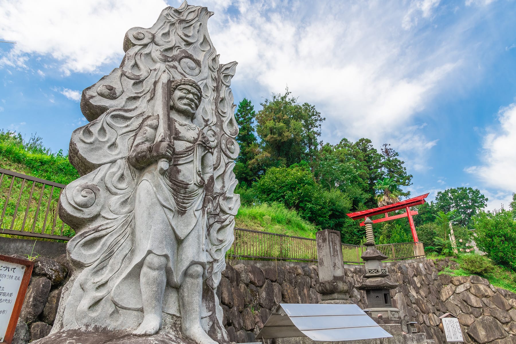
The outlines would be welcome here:
M 125 31 L 178 1 L 0 0 L 0 128 L 68 148 L 86 123 L 80 92 L 118 67 Z M 191 2 L 222 63 L 238 61 L 235 102 L 288 86 L 326 117 L 322 139 L 391 143 L 412 195 L 479 188 L 490 209 L 516 192 L 516 2 L 483 0 Z

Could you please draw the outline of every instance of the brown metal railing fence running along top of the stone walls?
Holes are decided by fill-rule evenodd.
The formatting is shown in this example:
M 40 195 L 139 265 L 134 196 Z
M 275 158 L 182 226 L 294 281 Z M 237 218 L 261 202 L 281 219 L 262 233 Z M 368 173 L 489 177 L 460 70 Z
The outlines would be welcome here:
M 0 169 L 0 234 L 69 240 L 75 232 L 59 219 L 63 184 Z M 232 258 L 317 261 L 315 239 L 235 228 Z M 422 242 L 376 245 L 388 257 L 424 257 Z M 366 247 L 342 244 L 344 263 L 362 264 Z

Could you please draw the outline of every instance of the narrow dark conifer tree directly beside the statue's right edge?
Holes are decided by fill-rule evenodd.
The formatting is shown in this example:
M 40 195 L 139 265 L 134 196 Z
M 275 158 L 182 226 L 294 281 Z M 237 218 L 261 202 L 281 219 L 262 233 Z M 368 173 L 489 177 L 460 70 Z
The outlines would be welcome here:
M 258 140 L 254 135 L 254 117 L 256 112 L 251 101 L 244 98 L 239 104 L 235 113 L 235 119 L 238 123 L 238 135 L 236 141 L 240 145 L 240 153 L 236 159 L 236 165 L 233 171 L 235 172 L 238 181 L 244 182 L 250 186 L 252 182 L 256 181 L 260 171 L 257 171 L 250 161 L 254 159 L 260 149 Z

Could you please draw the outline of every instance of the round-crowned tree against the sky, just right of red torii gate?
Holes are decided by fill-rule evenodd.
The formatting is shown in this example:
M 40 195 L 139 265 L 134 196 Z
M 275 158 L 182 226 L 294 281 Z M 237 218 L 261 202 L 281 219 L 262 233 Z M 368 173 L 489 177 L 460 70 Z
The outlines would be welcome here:
M 470 220 L 487 206 L 488 198 L 473 188 L 450 188 L 439 191 L 436 196 L 436 208 L 443 212 L 456 211 L 453 221 L 463 227 L 471 228 Z

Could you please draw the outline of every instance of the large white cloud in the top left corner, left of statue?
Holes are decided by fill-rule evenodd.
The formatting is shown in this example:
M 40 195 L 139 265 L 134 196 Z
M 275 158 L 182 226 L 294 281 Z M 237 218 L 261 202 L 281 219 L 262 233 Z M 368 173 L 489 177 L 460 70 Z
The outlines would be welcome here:
M 163 0 L 0 0 L 0 37 L 17 41 L 0 65 L 26 68 L 27 54 L 51 55 L 62 71 L 91 72 L 122 56 L 125 31 L 150 27 Z

